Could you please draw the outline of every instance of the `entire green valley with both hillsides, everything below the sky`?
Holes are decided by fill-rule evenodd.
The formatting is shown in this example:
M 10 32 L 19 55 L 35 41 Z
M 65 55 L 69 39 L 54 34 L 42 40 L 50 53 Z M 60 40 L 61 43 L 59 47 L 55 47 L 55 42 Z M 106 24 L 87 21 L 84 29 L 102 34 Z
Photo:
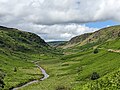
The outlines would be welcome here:
M 120 26 L 112 26 L 52 47 L 33 33 L 0 27 L 0 89 L 38 81 L 18 90 L 119 90 L 119 34 Z M 44 75 L 34 62 L 47 79 L 40 81 Z

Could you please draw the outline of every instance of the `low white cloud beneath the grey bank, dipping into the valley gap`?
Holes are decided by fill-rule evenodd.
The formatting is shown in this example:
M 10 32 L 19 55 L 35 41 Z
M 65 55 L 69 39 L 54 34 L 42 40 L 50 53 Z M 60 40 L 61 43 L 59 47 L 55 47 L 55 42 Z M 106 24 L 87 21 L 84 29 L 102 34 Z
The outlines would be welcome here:
M 79 24 L 67 24 L 67 25 L 32 25 L 24 24 L 24 26 L 18 25 L 17 27 L 23 28 L 23 30 L 34 32 L 44 38 L 46 41 L 58 41 L 69 40 L 76 35 L 83 33 L 93 32 L 98 30 L 97 28 L 89 28 L 85 25 Z M 28 29 L 29 27 L 29 29 Z

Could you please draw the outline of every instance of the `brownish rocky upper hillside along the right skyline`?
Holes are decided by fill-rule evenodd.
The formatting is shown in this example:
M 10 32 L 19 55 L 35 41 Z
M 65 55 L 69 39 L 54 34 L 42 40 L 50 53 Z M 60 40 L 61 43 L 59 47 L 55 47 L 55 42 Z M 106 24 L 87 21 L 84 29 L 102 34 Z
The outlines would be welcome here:
M 100 29 L 93 33 L 86 33 L 72 38 L 70 41 L 59 47 L 69 48 L 83 46 L 86 44 L 102 44 L 120 37 L 120 25 Z

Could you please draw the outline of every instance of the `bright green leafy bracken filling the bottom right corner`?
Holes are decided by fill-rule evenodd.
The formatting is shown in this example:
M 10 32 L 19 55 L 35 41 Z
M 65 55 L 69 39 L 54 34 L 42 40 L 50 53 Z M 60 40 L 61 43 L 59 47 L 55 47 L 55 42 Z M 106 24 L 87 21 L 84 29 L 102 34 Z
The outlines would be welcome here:
M 115 70 L 105 75 L 97 81 L 85 84 L 83 90 L 119 90 L 120 89 L 120 70 Z

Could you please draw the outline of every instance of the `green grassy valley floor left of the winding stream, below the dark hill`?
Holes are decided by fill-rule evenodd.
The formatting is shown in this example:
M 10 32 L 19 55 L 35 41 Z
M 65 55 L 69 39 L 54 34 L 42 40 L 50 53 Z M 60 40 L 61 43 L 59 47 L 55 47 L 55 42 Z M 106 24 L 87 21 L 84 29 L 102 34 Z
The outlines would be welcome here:
M 28 81 L 40 79 L 42 77 L 40 70 L 34 65 L 34 63 L 29 61 L 29 59 L 31 60 L 30 57 L 26 60 L 20 58 L 25 55 L 23 56 L 19 54 L 19 57 L 17 56 L 18 54 L 14 54 L 13 56 L 0 54 L 0 69 L 5 73 L 4 89 L 16 87 Z M 15 68 L 17 70 L 16 72 L 14 71 Z

